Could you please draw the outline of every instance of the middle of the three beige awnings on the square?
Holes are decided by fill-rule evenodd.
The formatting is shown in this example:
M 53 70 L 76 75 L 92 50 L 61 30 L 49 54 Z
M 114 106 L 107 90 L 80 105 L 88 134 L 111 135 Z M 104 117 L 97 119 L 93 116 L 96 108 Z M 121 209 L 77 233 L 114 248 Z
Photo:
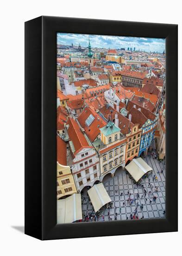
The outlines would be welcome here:
M 95 212 L 97 212 L 102 206 L 104 206 L 108 202 L 112 201 L 107 194 L 103 183 L 96 184 L 94 185 L 94 187 L 89 189 L 88 195 L 90 197 Z

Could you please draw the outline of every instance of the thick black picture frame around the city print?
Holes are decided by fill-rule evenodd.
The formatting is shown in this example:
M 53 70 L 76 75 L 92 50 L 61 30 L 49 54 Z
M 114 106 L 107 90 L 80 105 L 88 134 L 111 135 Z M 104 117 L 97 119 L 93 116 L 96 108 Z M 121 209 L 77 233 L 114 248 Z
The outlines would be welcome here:
M 56 33 L 166 39 L 166 218 L 56 224 Z M 25 234 L 41 240 L 177 231 L 177 25 L 41 16 L 25 22 Z

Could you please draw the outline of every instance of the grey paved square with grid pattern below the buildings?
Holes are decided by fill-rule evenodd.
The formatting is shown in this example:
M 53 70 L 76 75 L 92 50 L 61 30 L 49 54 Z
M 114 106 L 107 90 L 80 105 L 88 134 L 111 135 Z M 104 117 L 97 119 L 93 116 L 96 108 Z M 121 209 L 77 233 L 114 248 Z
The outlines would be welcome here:
M 165 210 L 165 165 L 163 162 L 159 163 L 158 160 L 153 160 L 151 156 L 147 156 L 143 158 L 145 162 L 147 162 L 153 169 L 151 175 L 146 178 L 141 185 L 144 185 L 144 189 L 146 189 L 146 197 L 144 197 L 144 193 L 141 187 L 137 187 L 133 184 L 132 180 L 129 178 L 129 175 L 126 175 L 125 170 L 118 169 L 115 173 L 115 176 L 111 178 L 110 175 L 107 175 L 103 180 L 103 184 L 113 202 L 113 207 L 109 210 L 104 211 L 105 221 L 108 220 L 108 211 L 110 212 L 110 217 L 114 220 L 114 214 L 117 212 L 117 220 L 126 220 L 126 217 L 130 217 L 130 214 L 134 214 L 134 210 L 136 208 L 138 202 L 138 218 L 140 219 L 142 216 L 144 218 L 161 218 L 164 217 L 163 210 Z M 157 171 L 161 171 L 163 169 L 163 173 L 157 173 Z M 152 181 L 153 175 L 157 176 L 157 180 Z M 153 195 L 149 194 L 151 187 L 149 187 L 149 179 L 150 183 L 153 185 Z M 158 187 L 158 192 L 155 192 L 155 187 Z M 131 193 L 131 199 L 136 198 L 136 201 L 130 205 L 127 202 L 129 198 L 128 195 Z M 121 193 L 123 195 L 121 196 Z M 139 194 L 139 198 L 137 199 L 137 194 Z M 141 198 L 143 195 L 143 199 Z M 156 202 L 153 201 L 153 196 L 156 196 Z M 85 200 L 82 199 L 82 211 L 87 215 L 88 213 L 93 211 L 93 207 L 90 204 L 88 196 L 84 194 Z M 83 198 L 83 197 L 82 197 Z M 147 198 L 147 201 L 146 201 Z M 150 203 L 150 200 L 152 201 Z M 123 202 L 125 205 L 123 206 Z M 140 209 L 140 205 L 143 204 L 143 210 Z M 116 207 L 116 209 L 115 209 Z M 101 216 L 99 221 L 101 221 Z

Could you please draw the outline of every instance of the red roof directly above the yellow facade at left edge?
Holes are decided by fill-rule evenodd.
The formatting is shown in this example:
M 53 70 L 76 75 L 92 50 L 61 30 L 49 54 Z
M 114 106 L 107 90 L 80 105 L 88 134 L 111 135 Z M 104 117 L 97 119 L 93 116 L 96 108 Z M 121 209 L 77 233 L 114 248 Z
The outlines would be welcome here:
M 62 165 L 67 165 L 67 148 L 64 142 L 58 135 L 57 138 L 57 162 Z

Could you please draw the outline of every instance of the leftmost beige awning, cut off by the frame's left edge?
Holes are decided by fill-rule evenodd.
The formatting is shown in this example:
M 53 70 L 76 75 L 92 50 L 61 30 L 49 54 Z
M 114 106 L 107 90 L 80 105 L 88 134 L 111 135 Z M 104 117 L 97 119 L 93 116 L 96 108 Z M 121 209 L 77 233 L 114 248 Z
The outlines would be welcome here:
M 57 223 L 71 223 L 82 219 L 81 194 L 57 200 Z

